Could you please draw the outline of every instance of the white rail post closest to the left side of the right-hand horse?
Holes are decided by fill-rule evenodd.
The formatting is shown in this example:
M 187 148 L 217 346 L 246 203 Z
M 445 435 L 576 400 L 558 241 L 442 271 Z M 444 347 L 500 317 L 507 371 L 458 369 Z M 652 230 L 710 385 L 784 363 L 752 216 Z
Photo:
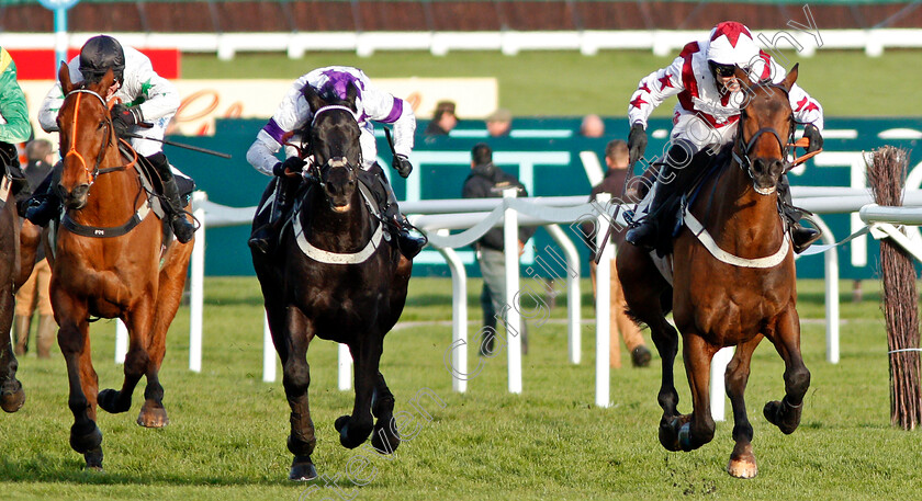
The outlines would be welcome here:
M 600 193 L 596 196 L 601 206 L 608 204 L 611 195 Z M 608 228 L 608 214 L 599 214 L 596 231 L 596 249 L 601 249 L 601 255 L 596 266 L 596 406 L 606 408 L 609 398 L 609 348 L 611 342 L 611 326 L 608 308 L 611 306 L 611 258 L 612 246 L 605 242 Z

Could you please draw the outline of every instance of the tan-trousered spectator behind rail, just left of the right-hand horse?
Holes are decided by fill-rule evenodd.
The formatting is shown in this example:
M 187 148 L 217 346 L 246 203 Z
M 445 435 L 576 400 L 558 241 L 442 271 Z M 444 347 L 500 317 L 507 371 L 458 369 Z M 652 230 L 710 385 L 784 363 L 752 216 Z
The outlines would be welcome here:
M 623 198 L 625 193 L 625 178 L 628 175 L 628 145 L 627 143 L 615 139 L 608 143 L 608 146 L 605 148 L 605 163 L 608 166 L 608 171 L 605 173 L 605 179 L 601 180 L 601 183 L 593 186 L 592 194 L 589 195 L 589 200 L 593 200 L 599 193 L 608 193 L 611 195 L 611 200 L 621 200 Z M 583 235 L 586 239 L 586 243 L 589 246 L 589 272 L 593 277 L 593 294 L 596 291 L 596 234 L 594 231 L 593 225 L 586 224 L 583 225 Z M 597 229 L 598 231 L 608 231 L 607 227 L 601 227 Z M 623 228 L 619 227 L 611 227 L 611 237 L 615 244 L 622 246 L 625 244 L 625 231 Z M 621 291 L 621 283 L 618 282 L 618 275 L 615 273 L 615 260 L 611 260 L 611 299 L 608 306 L 609 310 L 609 337 L 610 342 L 609 346 L 609 360 L 608 363 L 612 367 L 620 367 L 621 366 L 621 351 L 620 345 L 618 343 L 618 338 L 620 333 L 621 340 L 625 342 L 625 346 L 628 349 L 628 352 L 631 354 L 631 363 L 636 367 L 646 367 L 650 365 L 651 353 L 650 349 L 646 348 L 646 344 L 643 341 L 643 337 L 640 333 L 640 328 L 638 328 L 637 323 L 628 317 L 625 312 L 628 308 L 627 303 L 625 301 L 625 293 Z

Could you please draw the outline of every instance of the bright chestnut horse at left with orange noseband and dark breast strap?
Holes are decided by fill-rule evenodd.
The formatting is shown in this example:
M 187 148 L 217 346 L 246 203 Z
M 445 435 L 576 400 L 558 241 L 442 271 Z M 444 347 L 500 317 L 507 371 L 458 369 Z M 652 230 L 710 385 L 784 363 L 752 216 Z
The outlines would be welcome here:
M 58 71 L 65 99 L 58 114 L 63 170 L 56 189 L 66 208 L 52 262 L 52 307 L 67 364 L 68 407 L 74 413 L 70 446 L 87 468 L 102 468 L 102 433 L 97 406 L 112 413 L 131 409 L 132 394 L 146 376 L 137 423 L 165 426 L 164 388 L 158 372 L 167 329 L 182 298 L 193 242 L 169 239 L 149 209 L 137 155 L 126 159 L 103 98 L 114 78 L 74 83 L 67 65 Z M 99 391 L 90 357 L 90 317 L 119 318 L 128 330 L 121 390 Z

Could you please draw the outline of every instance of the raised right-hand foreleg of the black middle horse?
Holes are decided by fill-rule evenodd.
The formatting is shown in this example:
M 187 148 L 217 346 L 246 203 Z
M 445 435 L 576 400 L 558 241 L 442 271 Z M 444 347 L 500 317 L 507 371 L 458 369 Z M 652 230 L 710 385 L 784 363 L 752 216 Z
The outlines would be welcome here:
M 378 385 L 378 363 L 381 360 L 383 335 L 369 332 L 356 344 L 349 345 L 356 361 L 356 402 L 352 415 L 340 415 L 336 420 L 339 443 L 344 447 L 361 445 L 374 426 L 371 417 L 371 396 Z

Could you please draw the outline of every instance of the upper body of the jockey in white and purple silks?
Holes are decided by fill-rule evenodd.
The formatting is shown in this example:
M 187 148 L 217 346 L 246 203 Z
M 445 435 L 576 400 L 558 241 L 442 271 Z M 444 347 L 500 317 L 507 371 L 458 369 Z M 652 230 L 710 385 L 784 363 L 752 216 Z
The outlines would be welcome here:
M 333 90 L 340 99 L 345 99 L 348 82 L 352 82 L 359 91 L 356 98 L 356 116 L 361 129 L 359 141 L 362 147 L 362 168 L 369 170 L 378 158 L 372 121 L 394 124 L 394 150 L 397 155 L 409 157 L 416 132 L 416 117 L 409 103 L 372 86 L 371 80 L 358 68 L 329 66 L 317 68 L 292 83 L 276 114 L 262 127 L 247 151 L 250 164 L 260 172 L 272 175 L 272 168 L 279 163 L 274 153 L 285 141 L 283 138 L 311 122 L 313 114 L 301 92 L 306 83 L 321 95 Z

